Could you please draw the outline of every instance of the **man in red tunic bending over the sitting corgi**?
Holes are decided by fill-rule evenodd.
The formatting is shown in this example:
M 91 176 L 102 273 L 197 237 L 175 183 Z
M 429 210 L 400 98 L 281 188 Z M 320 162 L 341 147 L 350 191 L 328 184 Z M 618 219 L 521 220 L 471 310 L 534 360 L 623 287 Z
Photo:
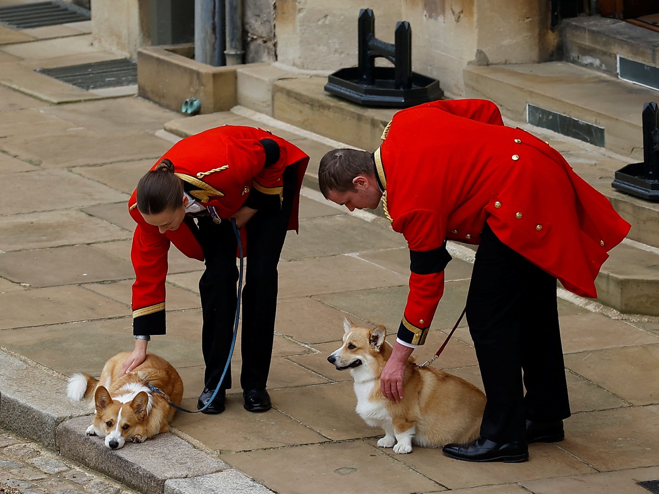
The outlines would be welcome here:
M 444 290 L 446 240 L 478 244 L 467 321 L 488 402 L 480 437 L 446 445 L 444 453 L 526 460 L 528 443 L 563 439 L 570 414 L 556 279 L 596 297 L 606 252 L 629 224 L 558 151 L 504 126 L 490 101 L 399 111 L 382 138 L 373 154 L 330 151 L 318 171 L 324 196 L 351 211 L 375 208 L 382 198 L 393 229 L 409 244 L 410 291 L 382 392 L 403 398 L 405 362 L 424 344 Z

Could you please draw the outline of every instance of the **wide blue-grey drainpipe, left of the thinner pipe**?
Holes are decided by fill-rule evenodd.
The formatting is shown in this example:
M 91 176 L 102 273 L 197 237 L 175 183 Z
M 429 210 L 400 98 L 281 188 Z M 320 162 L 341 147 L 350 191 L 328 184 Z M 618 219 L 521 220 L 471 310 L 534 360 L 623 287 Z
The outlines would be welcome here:
M 194 59 L 224 65 L 224 0 L 194 0 Z

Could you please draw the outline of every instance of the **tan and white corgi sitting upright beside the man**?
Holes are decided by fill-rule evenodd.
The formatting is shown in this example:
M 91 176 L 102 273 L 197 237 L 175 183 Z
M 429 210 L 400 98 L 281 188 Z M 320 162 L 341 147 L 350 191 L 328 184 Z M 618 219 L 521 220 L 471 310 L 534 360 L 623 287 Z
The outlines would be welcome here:
M 345 319 L 344 329 L 343 346 L 328 361 L 337 370 L 350 369 L 357 413 L 366 424 L 384 429 L 379 447 L 411 453 L 412 445 L 438 448 L 478 437 L 486 398 L 477 387 L 436 368 L 416 368 L 410 357 L 403 398 L 393 402 L 380 391 L 380 375 L 392 350 L 385 341 L 386 328 L 356 327 Z

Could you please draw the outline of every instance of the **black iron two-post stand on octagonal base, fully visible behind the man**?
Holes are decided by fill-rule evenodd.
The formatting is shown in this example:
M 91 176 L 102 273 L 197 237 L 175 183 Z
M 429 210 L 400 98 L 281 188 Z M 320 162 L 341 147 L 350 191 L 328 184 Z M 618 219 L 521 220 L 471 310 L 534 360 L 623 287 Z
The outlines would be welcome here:
M 337 70 L 325 90 L 360 105 L 410 107 L 441 99 L 444 92 L 436 79 L 412 72 L 412 28 L 397 22 L 395 43 L 375 37 L 375 15 L 359 11 L 357 21 L 357 67 Z M 386 58 L 391 67 L 376 67 L 375 59 Z

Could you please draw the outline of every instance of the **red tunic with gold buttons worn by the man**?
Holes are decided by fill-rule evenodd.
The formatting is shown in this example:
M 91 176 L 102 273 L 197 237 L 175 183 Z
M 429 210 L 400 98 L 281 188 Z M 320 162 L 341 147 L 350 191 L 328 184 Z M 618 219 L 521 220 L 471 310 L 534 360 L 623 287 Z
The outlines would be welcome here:
M 600 192 L 546 142 L 503 125 L 491 101 L 434 101 L 396 113 L 374 153 L 395 231 L 410 248 L 401 341 L 423 344 L 444 292 L 445 240 L 505 245 L 595 298 L 606 253 L 629 232 Z

